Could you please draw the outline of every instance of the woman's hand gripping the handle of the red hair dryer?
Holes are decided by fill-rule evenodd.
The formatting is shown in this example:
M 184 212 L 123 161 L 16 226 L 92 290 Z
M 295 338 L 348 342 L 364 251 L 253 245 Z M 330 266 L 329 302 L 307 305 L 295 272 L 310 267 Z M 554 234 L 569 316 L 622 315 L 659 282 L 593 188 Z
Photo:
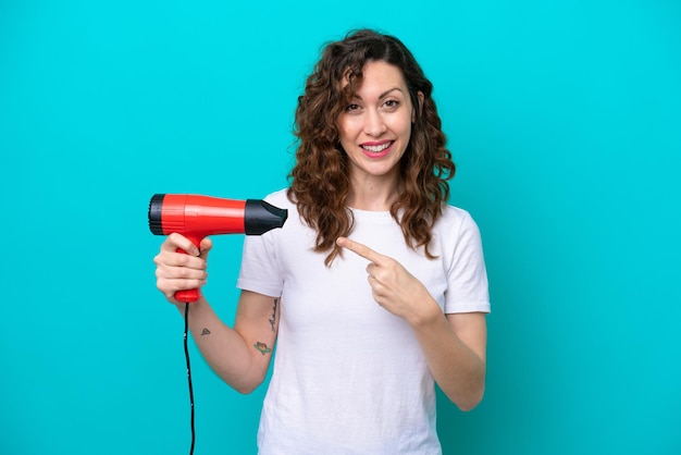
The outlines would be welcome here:
M 208 253 L 213 244 L 203 238 L 200 249 L 187 237 L 173 233 L 161 244 L 161 250 L 153 258 L 156 263 L 156 285 L 168 302 L 181 305 L 174 295 L 177 291 L 200 288 L 208 278 Z M 177 253 L 177 248 L 187 254 Z

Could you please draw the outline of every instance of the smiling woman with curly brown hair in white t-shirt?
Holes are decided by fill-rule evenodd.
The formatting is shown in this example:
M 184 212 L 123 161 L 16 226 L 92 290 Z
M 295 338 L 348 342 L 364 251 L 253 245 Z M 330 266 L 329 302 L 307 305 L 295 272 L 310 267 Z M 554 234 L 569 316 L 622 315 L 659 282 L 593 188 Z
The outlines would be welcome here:
M 455 165 L 431 93 L 394 37 L 330 44 L 298 99 L 292 185 L 267 198 L 288 220 L 245 241 L 234 328 L 193 304 L 202 355 L 243 393 L 276 342 L 261 454 L 439 454 L 434 383 L 463 410 L 482 399 L 487 279 L 475 223 L 445 204 Z M 173 234 L 154 259 L 181 311 L 211 245 Z

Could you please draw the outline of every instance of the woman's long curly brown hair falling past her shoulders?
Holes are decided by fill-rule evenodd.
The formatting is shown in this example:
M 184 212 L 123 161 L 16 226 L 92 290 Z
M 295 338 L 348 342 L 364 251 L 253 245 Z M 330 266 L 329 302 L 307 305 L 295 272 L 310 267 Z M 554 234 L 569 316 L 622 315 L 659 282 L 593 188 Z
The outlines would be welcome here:
M 324 261 L 327 267 L 340 254 L 336 238 L 347 236 L 355 222 L 346 207 L 350 180 L 348 157 L 339 143 L 338 118 L 361 85 L 362 69 L 375 61 L 401 71 L 411 104 L 420 107 L 400 160 L 404 190 L 392 205 L 391 214 L 400 225 L 407 245 L 424 247 L 431 259 L 431 231 L 449 198 L 447 181 L 456 171 L 432 98 L 433 84 L 407 47 L 393 36 L 370 29 L 352 32 L 329 44 L 307 78 L 305 93 L 298 97 L 296 164 L 288 175 L 288 198 L 317 231 L 314 250 L 329 251 Z

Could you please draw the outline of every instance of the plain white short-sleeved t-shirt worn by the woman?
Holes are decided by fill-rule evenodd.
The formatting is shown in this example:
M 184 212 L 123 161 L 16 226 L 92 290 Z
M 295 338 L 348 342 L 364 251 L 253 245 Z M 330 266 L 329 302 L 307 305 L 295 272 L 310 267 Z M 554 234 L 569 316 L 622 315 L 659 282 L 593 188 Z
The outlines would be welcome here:
M 441 454 L 433 377 L 410 327 L 373 299 L 367 259 L 346 250 L 325 267 L 326 254 L 313 251 L 315 232 L 286 192 L 265 200 L 288 209 L 288 219 L 246 237 L 237 281 L 281 296 L 259 453 Z M 349 237 L 399 261 L 445 313 L 490 311 L 480 233 L 466 211 L 445 208 L 433 231 L 434 260 L 406 245 L 389 212 L 352 213 Z

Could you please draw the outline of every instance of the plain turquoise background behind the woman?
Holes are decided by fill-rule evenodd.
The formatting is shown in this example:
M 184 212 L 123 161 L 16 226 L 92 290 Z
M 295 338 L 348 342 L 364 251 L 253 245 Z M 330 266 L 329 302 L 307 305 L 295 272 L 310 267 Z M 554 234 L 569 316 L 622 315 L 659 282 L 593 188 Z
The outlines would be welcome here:
M 0 453 L 188 452 L 149 198 L 285 186 L 305 76 L 360 26 L 433 81 L 483 234 L 487 392 L 441 399 L 445 453 L 681 453 L 681 3 L 227 3 L 0 2 Z M 214 242 L 232 322 L 243 238 Z M 196 453 L 255 453 L 264 388 L 193 360 Z

